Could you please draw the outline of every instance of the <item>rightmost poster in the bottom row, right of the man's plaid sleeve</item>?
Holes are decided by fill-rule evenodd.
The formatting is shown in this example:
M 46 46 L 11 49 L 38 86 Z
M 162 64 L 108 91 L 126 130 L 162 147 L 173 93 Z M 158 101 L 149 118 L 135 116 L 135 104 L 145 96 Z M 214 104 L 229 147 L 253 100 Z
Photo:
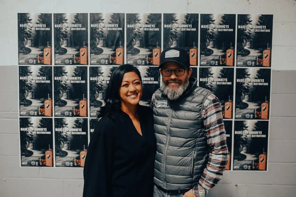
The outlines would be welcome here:
M 234 121 L 234 170 L 267 170 L 268 121 Z

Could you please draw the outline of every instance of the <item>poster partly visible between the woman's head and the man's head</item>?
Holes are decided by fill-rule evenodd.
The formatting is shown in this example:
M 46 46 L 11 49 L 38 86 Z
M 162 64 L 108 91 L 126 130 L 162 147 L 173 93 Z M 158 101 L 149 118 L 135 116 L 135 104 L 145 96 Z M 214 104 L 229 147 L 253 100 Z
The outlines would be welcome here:
M 138 66 L 142 78 L 142 96 L 140 105 L 149 106 L 153 93 L 160 87 L 160 73 L 157 66 Z

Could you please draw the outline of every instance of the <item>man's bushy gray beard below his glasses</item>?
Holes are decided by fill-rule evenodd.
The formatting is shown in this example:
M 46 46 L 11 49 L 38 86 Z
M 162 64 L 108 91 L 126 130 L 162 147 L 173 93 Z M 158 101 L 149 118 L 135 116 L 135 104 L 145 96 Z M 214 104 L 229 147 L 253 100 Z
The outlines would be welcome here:
M 169 100 L 173 101 L 178 99 L 186 90 L 189 85 L 189 78 L 186 77 L 185 83 L 181 83 L 180 87 L 177 89 L 171 89 L 168 87 L 168 82 L 163 82 L 161 85 L 163 88 L 163 93 L 168 97 Z

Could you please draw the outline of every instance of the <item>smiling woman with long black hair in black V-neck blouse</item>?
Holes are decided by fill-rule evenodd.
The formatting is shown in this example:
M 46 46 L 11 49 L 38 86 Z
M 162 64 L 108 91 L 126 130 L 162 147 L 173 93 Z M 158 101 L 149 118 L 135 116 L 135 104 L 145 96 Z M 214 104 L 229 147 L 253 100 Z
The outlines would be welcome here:
M 153 114 L 139 105 L 141 96 L 139 70 L 119 66 L 111 75 L 87 150 L 83 197 L 153 196 Z

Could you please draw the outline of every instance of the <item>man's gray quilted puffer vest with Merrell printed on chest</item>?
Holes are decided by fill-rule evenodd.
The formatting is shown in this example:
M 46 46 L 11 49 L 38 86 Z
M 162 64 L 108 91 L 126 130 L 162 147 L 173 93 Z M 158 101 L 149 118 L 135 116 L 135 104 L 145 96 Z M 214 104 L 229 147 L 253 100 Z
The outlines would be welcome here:
M 208 161 L 201 113 L 205 98 L 212 92 L 198 87 L 196 78 L 189 81 L 178 100 L 168 100 L 161 88 L 152 96 L 157 140 L 154 183 L 166 190 L 192 189 Z

